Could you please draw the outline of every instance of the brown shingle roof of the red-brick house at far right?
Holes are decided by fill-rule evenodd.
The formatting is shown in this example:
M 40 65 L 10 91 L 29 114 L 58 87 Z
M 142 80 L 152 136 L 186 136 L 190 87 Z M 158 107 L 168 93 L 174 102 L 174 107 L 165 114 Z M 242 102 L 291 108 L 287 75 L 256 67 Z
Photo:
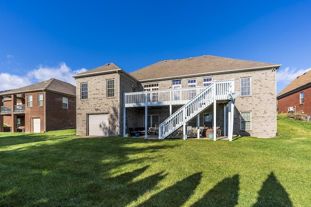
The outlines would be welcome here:
M 297 77 L 290 84 L 288 84 L 276 97 L 286 95 L 293 92 L 295 89 L 298 89 L 303 86 L 311 85 L 311 70 L 307 73 Z

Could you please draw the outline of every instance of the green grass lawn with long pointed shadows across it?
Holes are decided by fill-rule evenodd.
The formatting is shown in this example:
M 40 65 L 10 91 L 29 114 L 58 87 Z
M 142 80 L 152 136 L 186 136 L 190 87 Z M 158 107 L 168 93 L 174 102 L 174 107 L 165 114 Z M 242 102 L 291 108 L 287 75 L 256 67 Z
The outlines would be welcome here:
M 311 123 L 272 139 L 0 133 L 0 207 L 310 207 Z

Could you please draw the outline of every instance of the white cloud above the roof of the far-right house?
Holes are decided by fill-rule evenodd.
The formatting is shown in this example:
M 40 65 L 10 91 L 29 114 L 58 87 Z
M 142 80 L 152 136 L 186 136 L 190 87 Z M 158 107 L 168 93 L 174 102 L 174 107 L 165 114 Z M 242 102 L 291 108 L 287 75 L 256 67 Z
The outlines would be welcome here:
M 308 72 L 309 70 L 311 70 L 311 68 L 297 70 L 297 68 L 290 69 L 289 67 L 283 70 L 277 70 L 276 81 L 289 84 L 295 78 L 297 78 L 298 76 L 301 76 L 302 74 Z

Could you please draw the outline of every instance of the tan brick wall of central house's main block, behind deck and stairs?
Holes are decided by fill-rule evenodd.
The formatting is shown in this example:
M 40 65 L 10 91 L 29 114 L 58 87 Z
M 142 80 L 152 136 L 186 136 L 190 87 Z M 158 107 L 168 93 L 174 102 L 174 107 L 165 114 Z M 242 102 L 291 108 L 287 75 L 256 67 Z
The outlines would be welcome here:
M 251 77 L 251 96 L 239 96 L 235 101 L 234 111 L 234 128 L 233 133 L 242 136 L 255 136 L 255 137 L 275 137 L 276 136 L 276 72 L 272 69 L 262 69 L 248 72 L 237 72 L 229 74 L 191 77 L 181 80 L 182 88 L 188 87 L 188 80 L 195 79 L 197 86 L 203 86 L 204 78 L 213 78 L 216 80 L 230 80 L 235 79 L 235 90 L 241 92 L 241 78 Z M 159 83 L 159 90 L 165 90 L 172 87 L 172 80 L 163 81 L 150 81 L 148 83 Z M 143 91 L 143 84 L 140 84 L 139 90 Z M 208 108 L 206 112 L 212 112 L 212 107 Z M 223 106 L 217 107 L 217 125 L 223 126 Z M 163 109 L 169 111 L 169 109 Z M 226 110 L 227 112 L 228 110 Z M 252 129 L 241 130 L 241 112 L 250 111 L 252 114 Z M 160 122 L 165 120 L 169 112 L 160 113 L 155 110 L 148 110 L 148 114 L 162 114 L 160 115 Z M 143 127 L 144 111 L 138 110 L 138 127 Z M 227 117 L 226 117 L 227 119 Z M 203 125 L 203 115 L 201 117 L 201 124 Z M 135 125 L 133 123 L 132 125 Z M 227 125 L 227 122 L 226 122 Z M 227 127 L 226 127 L 227 128 Z

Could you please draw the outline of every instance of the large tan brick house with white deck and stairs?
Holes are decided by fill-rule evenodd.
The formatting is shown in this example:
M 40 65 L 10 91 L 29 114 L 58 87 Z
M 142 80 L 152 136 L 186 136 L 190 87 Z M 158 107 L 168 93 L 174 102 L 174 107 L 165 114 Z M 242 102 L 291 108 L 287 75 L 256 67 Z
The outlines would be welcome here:
M 105 64 L 74 76 L 77 135 L 125 136 L 139 128 L 147 137 L 155 127 L 159 139 L 174 133 L 187 139 L 190 130 L 199 138 L 203 128 L 213 134 L 219 128 L 229 138 L 275 137 L 278 67 L 209 55 L 160 61 L 131 73 Z M 234 102 L 228 95 L 236 91 Z

